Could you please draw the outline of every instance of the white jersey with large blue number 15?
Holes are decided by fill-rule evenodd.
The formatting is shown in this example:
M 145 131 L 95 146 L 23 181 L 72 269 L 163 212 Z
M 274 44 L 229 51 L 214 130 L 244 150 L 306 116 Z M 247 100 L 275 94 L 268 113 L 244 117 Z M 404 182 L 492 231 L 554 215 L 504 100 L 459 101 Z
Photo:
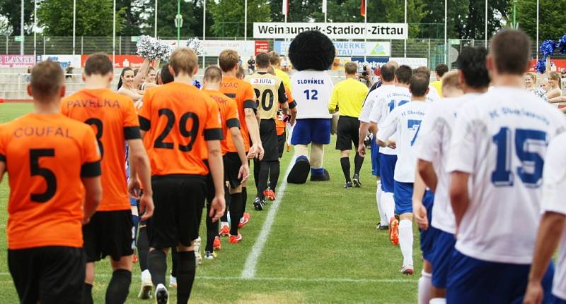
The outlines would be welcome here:
M 461 107 L 446 171 L 470 174 L 456 250 L 478 260 L 531 264 L 548 142 L 564 115 L 515 87 L 492 87 Z

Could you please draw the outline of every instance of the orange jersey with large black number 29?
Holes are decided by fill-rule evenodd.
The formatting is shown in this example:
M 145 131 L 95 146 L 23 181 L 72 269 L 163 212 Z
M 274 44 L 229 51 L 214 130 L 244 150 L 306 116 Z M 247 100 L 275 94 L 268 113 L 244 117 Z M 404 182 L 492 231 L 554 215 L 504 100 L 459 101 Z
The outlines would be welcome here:
M 180 82 L 152 87 L 139 111 L 151 175 L 207 175 L 206 140 L 221 140 L 216 102 L 194 85 Z M 207 156 L 207 157 L 204 157 Z

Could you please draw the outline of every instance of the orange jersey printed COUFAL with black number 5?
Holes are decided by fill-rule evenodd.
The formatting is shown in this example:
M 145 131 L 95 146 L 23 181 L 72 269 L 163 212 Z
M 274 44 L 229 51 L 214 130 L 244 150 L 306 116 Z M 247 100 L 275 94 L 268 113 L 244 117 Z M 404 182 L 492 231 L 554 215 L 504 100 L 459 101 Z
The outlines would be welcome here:
M 61 114 L 26 114 L 0 125 L 10 183 L 8 249 L 82 247 L 81 177 L 100 176 L 93 130 Z

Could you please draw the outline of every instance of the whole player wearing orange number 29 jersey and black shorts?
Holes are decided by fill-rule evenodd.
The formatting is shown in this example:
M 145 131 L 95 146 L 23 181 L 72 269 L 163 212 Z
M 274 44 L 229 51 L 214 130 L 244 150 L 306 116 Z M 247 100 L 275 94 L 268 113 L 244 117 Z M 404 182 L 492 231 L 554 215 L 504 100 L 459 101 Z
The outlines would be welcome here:
M 198 70 L 195 52 L 179 47 L 169 66 L 174 81 L 147 90 L 139 112 L 155 202 L 154 216 L 147 223 L 147 264 L 157 303 L 167 303 L 166 253 L 177 246 L 177 303 L 187 303 L 196 270 L 193 241 L 199 234 L 209 171 L 215 190 L 209 217 L 216 221 L 224 213 L 222 130 L 218 104 L 192 85 Z

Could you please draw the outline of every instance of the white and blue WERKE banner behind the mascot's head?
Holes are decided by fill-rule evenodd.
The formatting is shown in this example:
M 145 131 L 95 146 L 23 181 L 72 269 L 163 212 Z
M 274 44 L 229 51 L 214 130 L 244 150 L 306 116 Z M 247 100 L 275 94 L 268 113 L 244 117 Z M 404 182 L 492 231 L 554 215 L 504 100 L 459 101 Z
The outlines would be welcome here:
M 335 41 L 337 57 L 348 56 L 391 56 L 391 43 L 383 41 L 347 42 Z M 291 42 L 275 41 L 274 49 L 279 54 L 287 54 Z

